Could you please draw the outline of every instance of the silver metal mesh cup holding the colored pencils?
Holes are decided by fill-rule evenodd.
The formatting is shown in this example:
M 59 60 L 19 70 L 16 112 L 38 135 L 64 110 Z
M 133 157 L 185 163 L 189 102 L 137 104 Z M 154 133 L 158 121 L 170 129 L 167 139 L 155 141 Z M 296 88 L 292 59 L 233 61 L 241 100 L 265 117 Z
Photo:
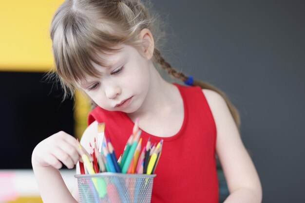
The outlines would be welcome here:
M 80 203 L 150 203 L 155 174 L 74 175 Z

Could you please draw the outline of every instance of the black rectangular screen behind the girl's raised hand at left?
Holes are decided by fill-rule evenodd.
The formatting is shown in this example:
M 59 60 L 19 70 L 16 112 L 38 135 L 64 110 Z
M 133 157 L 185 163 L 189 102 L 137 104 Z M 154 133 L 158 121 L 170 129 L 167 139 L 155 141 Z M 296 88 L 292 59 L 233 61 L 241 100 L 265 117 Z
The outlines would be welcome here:
M 0 169 L 32 168 L 35 146 L 63 130 L 74 133 L 72 100 L 44 73 L 0 72 Z

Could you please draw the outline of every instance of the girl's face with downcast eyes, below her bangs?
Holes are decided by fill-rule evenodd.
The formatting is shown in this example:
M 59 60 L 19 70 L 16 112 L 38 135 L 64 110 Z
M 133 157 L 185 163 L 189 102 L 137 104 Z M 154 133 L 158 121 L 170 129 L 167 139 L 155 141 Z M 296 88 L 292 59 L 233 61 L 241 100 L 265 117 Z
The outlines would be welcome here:
M 140 108 L 149 91 L 149 60 L 132 46 L 122 47 L 119 52 L 103 55 L 107 67 L 93 63 L 102 76 L 87 75 L 79 87 L 105 110 L 132 113 Z

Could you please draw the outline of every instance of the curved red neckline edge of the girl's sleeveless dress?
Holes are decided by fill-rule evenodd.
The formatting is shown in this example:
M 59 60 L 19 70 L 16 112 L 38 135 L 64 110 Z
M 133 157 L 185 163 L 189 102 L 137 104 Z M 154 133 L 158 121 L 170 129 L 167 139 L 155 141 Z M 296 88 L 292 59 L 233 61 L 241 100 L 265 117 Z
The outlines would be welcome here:
M 172 84 L 178 88 L 178 90 L 180 92 L 180 96 L 182 97 L 182 101 L 183 101 L 184 117 L 183 117 L 183 122 L 182 122 L 182 125 L 181 125 L 179 131 L 170 137 L 159 137 L 159 136 L 152 135 L 152 134 L 142 130 L 142 133 L 141 133 L 142 137 L 146 137 L 146 138 L 151 137 L 151 139 L 155 140 L 155 141 L 159 141 L 160 139 L 163 139 L 164 142 L 170 142 L 170 141 L 178 139 L 183 134 L 183 132 L 186 128 L 187 121 L 188 121 L 187 101 L 186 101 L 183 91 L 181 90 L 182 89 L 181 85 L 179 85 L 177 83 L 172 83 Z M 132 125 L 132 128 L 133 128 L 133 126 L 134 126 L 133 121 L 128 117 L 128 115 L 125 112 L 122 112 L 122 111 L 120 111 L 120 112 L 123 114 L 123 116 L 125 116 L 127 118 L 129 125 Z

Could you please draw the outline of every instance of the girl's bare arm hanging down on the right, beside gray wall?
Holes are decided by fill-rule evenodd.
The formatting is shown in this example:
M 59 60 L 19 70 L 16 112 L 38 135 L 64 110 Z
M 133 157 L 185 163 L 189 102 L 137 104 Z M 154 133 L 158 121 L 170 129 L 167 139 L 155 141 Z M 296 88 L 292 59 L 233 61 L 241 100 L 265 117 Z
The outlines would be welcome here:
M 258 174 L 225 100 L 217 92 L 203 92 L 216 123 L 216 153 L 230 192 L 225 203 L 261 203 L 262 186 Z

